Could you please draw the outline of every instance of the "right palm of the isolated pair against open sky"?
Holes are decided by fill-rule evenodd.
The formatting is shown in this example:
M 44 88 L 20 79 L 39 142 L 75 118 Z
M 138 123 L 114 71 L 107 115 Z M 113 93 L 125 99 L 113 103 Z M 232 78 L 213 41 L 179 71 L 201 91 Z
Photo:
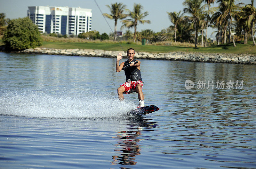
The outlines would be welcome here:
M 133 11 L 129 11 L 128 16 L 131 17 L 131 19 L 126 19 L 123 20 L 122 22 L 124 23 L 124 25 L 121 26 L 121 28 L 123 28 L 124 26 L 127 28 L 132 28 L 134 27 L 134 34 L 133 34 L 133 41 L 135 42 L 136 39 L 136 29 L 137 29 L 137 25 L 139 23 L 144 24 L 150 24 L 149 20 L 143 20 L 146 16 L 148 16 L 148 12 L 143 12 L 142 13 L 142 9 L 143 6 L 141 4 L 135 4 L 133 5 Z

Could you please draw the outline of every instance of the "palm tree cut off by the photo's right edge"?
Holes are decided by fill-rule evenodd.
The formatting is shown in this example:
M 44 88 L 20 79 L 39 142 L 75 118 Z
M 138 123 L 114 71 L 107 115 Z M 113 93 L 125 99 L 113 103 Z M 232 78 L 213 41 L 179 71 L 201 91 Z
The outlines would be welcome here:
M 256 9 L 253 6 L 253 0 L 251 0 L 252 4 L 248 4 L 244 7 L 244 17 L 242 18 L 242 21 L 245 22 L 245 24 L 251 28 L 252 33 L 252 41 L 253 45 L 255 46 L 255 40 L 254 40 L 254 32 L 253 32 L 253 26 L 254 22 L 256 20 Z

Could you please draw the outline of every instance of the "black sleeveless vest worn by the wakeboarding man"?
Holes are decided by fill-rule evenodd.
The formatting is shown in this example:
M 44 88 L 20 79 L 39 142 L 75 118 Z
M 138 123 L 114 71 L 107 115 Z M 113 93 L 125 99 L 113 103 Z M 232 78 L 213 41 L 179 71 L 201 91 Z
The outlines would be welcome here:
M 133 62 L 136 61 L 135 59 L 132 60 Z M 129 60 L 124 62 L 124 66 L 129 65 Z M 135 66 L 130 66 L 124 69 L 124 74 L 126 76 L 126 81 L 130 79 L 131 81 L 142 81 L 140 70 Z

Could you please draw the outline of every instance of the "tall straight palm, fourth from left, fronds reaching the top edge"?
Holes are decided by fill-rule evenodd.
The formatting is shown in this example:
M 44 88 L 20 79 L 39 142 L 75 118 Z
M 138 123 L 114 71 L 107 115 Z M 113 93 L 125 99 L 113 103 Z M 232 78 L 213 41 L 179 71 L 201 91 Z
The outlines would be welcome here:
M 205 5 L 202 5 L 204 0 L 185 0 L 182 4 L 187 8 L 184 8 L 184 13 L 189 13 L 192 15 L 191 20 L 194 24 L 195 29 L 195 47 L 197 48 L 197 22 L 199 15 L 204 11 Z

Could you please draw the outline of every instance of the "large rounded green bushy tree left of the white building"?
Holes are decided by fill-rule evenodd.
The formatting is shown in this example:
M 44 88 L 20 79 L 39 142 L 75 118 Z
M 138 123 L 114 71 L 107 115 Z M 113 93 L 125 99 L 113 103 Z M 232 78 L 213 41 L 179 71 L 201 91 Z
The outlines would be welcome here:
M 26 18 L 12 19 L 7 26 L 3 42 L 7 49 L 23 50 L 43 44 L 38 27 Z

